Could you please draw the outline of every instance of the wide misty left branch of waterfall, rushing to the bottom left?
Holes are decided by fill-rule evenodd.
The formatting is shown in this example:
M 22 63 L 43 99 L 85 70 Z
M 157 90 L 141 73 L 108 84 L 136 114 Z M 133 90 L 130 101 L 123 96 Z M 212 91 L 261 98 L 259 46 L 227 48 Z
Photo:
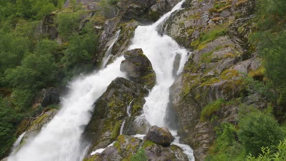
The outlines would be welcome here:
M 96 74 L 72 82 L 59 113 L 8 161 L 82 161 L 80 138 L 90 120 L 92 105 L 112 80 L 125 77 L 120 72 L 123 59 L 117 58 Z

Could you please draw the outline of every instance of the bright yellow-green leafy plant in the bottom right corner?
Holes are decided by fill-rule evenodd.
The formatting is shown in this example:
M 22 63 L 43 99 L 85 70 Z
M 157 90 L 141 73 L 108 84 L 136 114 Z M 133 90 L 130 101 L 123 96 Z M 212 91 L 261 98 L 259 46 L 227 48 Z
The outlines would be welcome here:
M 250 154 L 247 161 L 286 161 L 286 141 L 280 141 L 274 151 L 269 147 L 261 147 L 261 154 L 258 157 Z

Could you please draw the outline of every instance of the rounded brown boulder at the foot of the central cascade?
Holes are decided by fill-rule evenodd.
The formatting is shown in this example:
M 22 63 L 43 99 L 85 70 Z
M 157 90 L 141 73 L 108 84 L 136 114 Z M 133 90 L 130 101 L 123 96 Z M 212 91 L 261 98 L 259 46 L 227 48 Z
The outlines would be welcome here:
M 167 128 L 152 126 L 151 129 L 149 129 L 147 135 L 144 136 L 144 140 L 149 140 L 163 146 L 168 146 L 173 142 L 174 137 Z

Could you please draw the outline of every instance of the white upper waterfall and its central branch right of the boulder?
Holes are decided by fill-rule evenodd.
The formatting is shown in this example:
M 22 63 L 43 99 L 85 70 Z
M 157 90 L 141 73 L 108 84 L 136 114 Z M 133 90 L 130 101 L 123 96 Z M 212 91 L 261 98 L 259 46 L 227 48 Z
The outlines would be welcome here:
M 162 16 L 157 22 L 150 26 L 138 26 L 129 49 L 142 48 L 144 54 L 151 61 L 156 72 L 157 85 L 152 89 L 143 107 L 144 116 L 151 125 L 165 126 L 164 117 L 169 102 L 169 88 L 174 83 L 173 64 L 176 54 L 181 54 L 182 59 L 179 71 L 182 71 L 187 60 L 188 51 L 181 48 L 175 40 L 167 35 L 159 35 L 157 27 L 163 23 L 173 12 L 180 9 L 179 2 L 172 11 Z M 148 34 L 146 34 L 148 33 Z

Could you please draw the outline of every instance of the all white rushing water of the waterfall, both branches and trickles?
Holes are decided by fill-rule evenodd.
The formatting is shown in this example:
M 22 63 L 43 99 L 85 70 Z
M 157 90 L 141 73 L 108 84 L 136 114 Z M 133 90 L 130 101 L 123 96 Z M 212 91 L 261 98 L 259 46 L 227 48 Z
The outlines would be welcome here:
M 169 102 L 169 88 L 175 81 L 173 77 L 175 55 L 182 56 L 178 73 L 183 70 L 188 57 L 188 51 L 185 48 L 181 48 L 170 36 L 159 35 L 157 28 L 173 12 L 181 9 L 184 1 L 179 2 L 172 11 L 162 16 L 154 24 L 138 26 L 129 47 L 129 49 L 142 48 L 156 72 L 157 85 L 145 98 L 146 103 L 143 107 L 143 117 L 151 125 L 166 126 L 164 118 Z M 120 31 L 116 33 L 114 43 L 119 33 Z M 110 51 L 113 42 L 108 49 Z M 104 66 L 109 57 L 108 51 L 104 59 Z M 25 143 L 15 154 L 10 155 L 8 161 L 82 161 L 86 147 L 82 147 L 82 143 L 80 143 L 81 136 L 84 127 L 90 121 L 92 105 L 106 91 L 112 80 L 117 77 L 125 77 L 125 74 L 120 72 L 120 63 L 123 59 L 123 57 L 119 57 L 99 72 L 73 81 L 70 85 L 69 95 L 64 98 L 59 113 L 42 128 L 37 136 Z M 141 135 L 137 137 L 139 136 Z M 191 147 L 179 144 L 178 139 L 176 137 L 173 144 L 182 147 L 189 160 L 194 161 Z M 93 154 L 103 150 L 98 149 Z

